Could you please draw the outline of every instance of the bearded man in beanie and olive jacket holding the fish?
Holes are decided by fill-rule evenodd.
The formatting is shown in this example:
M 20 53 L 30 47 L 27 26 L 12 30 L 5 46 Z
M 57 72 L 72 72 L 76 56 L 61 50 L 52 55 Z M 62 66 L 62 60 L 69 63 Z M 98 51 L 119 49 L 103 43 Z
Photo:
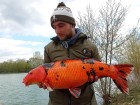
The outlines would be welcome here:
M 75 28 L 76 24 L 71 9 L 66 7 L 63 2 L 58 4 L 50 20 L 57 36 L 53 37 L 52 41 L 45 46 L 45 63 L 76 58 L 99 60 L 98 49 L 87 40 L 87 36 L 80 29 Z M 43 87 L 42 84 L 40 87 Z M 68 89 L 56 89 L 49 92 L 48 105 L 96 105 L 92 84 L 86 83 L 80 88 L 82 93 L 79 98 L 73 97 Z

